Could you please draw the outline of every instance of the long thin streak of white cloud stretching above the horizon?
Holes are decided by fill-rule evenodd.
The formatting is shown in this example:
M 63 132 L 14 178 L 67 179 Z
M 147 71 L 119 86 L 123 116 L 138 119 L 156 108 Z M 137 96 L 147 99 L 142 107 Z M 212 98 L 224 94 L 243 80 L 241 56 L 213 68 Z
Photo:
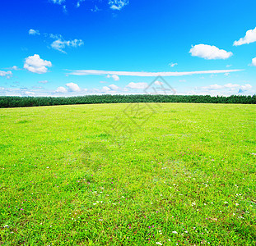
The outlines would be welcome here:
M 212 71 L 189 71 L 189 72 L 132 72 L 132 71 L 100 71 L 100 70 L 76 70 L 70 72 L 68 75 L 121 75 L 121 76 L 138 76 L 138 77 L 171 77 L 184 75 L 203 75 L 203 74 L 225 74 L 236 71 L 243 71 L 239 69 L 234 70 L 212 70 Z

